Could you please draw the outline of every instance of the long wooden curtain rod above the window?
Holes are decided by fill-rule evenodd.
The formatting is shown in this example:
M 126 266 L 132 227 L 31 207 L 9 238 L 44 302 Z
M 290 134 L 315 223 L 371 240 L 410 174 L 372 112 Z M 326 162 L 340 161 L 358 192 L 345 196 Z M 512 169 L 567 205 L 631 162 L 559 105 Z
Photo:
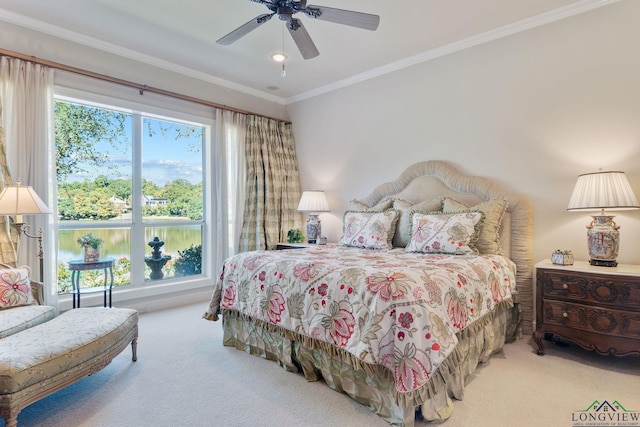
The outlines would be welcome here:
M 250 115 L 253 115 L 253 116 L 264 117 L 264 118 L 267 118 L 267 119 L 276 120 L 276 121 L 283 122 L 283 123 L 286 123 L 286 124 L 291 124 L 290 121 L 279 119 L 277 117 L 269 117 L 269 116 L 265 116 L 263 114 L 256 114 L 256 113 L 252 113 L 250 111 L 240 110 L 238 108 L 229 107 L 228 105 L 218 104 L 216 102 L 207 101 L 205 99 L 195 98 L 195 97 L 192 97 L 192 96 L 189 96 L 189 95 L 183 95 L 181 93 L 172 92 L 172 91 L 169 91 L 169 90 L 164 90 L 164 89 L 160 89 L 160 88 L 153 87 L 153 86 L 143 85 L 143 84 L 135 83 L 135 82 L 132 82 L 132 81 L 129 81 L 129 80 L 124 80 L 124 79 L 119 79 L 117 77 L 107 76 L 106 74 L 96 73 L 94 71 L 89 71 L 89 70 L 85 70 L 85 69 L 82 69 L 82 68 L 73 67 L 71 65 L 60 64 L 59 62 L 49 61 L 49 60 L 46 60 L 46 59 L 41 59 L 41 58 L 37 58 L 35 56 L 25 55 L 25 54 L 22 54 L 22 53 L 13 52 L 13 51 L 2 49 L 2 48 L 0 48 L 0 56 L 7 56 L 7 57 L 10 57 L 10 58 L 23 59 L 25 61 L 33 62 L 33 63 L 40 64 L 40 65 L 45 65 L 47 67 L 54 68 L 54 69 L 57 69 L 57 70 L 68 71 L 68 72 L 71 72 L 71 73 L 80 74 L 80 75 L 83 75 L 83 76 L 86 76 L 86 77 L 91 77 L 91 78 L 94 78 L 94 79 L 103 80 L 103 81 L 110 82 L 110 83 L 116 83 L 116 84 L 119 84 L 121 86 L 128 86 L 128 87 L 137 89 L 140 92 L 140 95 L 143 95 L 145 92 L 152 92 L 152 93 L 156 93 L 156 94 L 159 94 L 159 95 L 165 95 L 165 96 L 169 96 L 169 97 L 172 97 L 172 98 L 181 99 L 183 101 L 195 102 L 196 104 L 206 105 L 208 107 L 220 108 L 222 110 L 233 111 L 233 112 L 241 113 L 241 114 L 250 114 Z

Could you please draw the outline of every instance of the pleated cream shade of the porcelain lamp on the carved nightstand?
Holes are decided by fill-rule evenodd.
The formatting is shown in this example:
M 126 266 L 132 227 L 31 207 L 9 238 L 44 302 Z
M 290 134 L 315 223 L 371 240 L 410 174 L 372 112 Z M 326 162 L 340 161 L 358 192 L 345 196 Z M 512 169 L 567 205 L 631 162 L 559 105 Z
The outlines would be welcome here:
M 640 205 L 624 172 L 595 172 L 578 176 L 567 210 L 638 208 Z

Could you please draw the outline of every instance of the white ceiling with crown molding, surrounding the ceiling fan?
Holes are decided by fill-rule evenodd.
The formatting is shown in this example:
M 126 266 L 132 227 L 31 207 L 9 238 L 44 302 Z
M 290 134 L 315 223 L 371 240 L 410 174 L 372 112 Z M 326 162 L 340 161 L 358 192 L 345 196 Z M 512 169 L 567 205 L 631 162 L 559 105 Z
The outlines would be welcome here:
M 372 32 L 297 14 L 320 51 L 305 61 L 276 17 L 230 46 L 215 43 L 268 12 L 250 0 L 0 0 L 0 20 L 288 103 L 612 1 L 309 2 L 377 14 L 380 26 Z M 283 42 L 284 78 L 269 58 Z

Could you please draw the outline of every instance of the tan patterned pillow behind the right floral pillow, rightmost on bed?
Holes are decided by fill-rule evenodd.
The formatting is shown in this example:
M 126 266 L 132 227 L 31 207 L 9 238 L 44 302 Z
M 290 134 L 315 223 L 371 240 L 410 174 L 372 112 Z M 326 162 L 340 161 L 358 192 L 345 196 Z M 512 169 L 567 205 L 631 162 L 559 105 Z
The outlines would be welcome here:
M 482 255 L 503 255 L 500 247 L 500 226 L 507 210 L 506 200 L 489 200 L 476 206 L 467 206 L 456 200 L 446 198 L 442 204 L 443 212 L 480 211 L 484 213 L 484 224 L 480 228 L 480 236 L 476 247 Z

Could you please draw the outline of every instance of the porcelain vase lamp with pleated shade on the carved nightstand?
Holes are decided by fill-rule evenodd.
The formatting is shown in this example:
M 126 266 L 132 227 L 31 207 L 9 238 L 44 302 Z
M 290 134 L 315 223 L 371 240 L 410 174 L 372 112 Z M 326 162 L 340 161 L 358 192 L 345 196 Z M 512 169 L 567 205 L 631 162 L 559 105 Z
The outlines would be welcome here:
M 587 225 L 587 244 L 591 265 L 615 267 L 618 265 L 620 245 L 619 225 L 613 215 L 604 210 L 639 209 L 638 200 L 624 172 L 594 172 L 578 176 L 567 210 L 599 210 Z

